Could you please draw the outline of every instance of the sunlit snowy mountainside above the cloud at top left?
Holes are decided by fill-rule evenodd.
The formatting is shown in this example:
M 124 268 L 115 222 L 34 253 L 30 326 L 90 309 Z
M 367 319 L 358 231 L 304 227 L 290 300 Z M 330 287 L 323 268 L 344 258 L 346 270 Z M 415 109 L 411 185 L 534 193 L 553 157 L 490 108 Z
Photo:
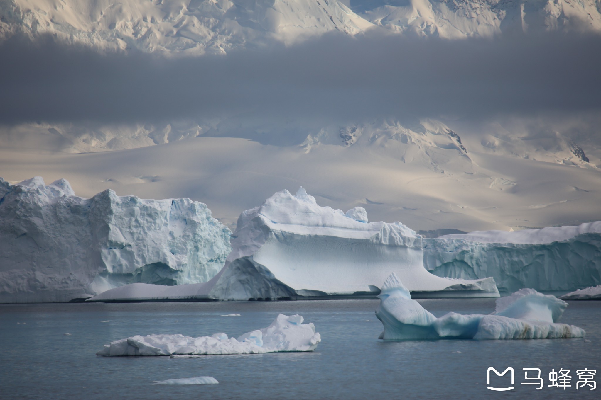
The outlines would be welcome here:
M 373 26 L 337 0 L 8 0 L 0 37 L 52 34 L 100 49 L 225 53 Z

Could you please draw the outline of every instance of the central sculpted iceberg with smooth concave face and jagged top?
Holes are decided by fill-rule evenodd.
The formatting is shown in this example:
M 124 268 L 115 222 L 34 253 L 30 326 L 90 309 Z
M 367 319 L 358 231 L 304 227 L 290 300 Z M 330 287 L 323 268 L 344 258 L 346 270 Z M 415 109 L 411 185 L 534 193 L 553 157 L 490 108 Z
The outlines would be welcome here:
M 368 222 L 362 207 L 321 207 L 300 188 L 243 212 L 224 268 L 206 284 L 135 284 L 92 301 L 374 297 L 391 272 L 418 297 L 498 297 L 491 278 L 466 280 L 424 269 L 421 236 L 400 222 Z

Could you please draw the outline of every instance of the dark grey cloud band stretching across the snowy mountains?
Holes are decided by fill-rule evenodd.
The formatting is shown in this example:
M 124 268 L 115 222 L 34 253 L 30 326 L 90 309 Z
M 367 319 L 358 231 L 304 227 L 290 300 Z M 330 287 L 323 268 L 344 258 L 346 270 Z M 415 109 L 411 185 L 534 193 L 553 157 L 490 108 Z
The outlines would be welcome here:
M 288 48 L 171 59 L 12 38 L 0 45 L 0 122 L 581 112 L 601 109 L 600 66 L 599 35 L 325 35 Z

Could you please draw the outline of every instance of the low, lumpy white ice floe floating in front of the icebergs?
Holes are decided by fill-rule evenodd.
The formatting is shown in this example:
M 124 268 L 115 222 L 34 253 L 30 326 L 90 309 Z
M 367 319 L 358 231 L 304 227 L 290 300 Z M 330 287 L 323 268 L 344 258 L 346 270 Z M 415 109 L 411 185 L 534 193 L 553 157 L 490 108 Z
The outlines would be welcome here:
M 191 338 L 183 335 L 130 336 L 105 344 L 97 356 L 206 356 L 260 354 L 279 351 L 313 351 L 322 340 L 313 323 L 301 315 L 279 314 L 264 329 L 228 338 L 225 333 Z

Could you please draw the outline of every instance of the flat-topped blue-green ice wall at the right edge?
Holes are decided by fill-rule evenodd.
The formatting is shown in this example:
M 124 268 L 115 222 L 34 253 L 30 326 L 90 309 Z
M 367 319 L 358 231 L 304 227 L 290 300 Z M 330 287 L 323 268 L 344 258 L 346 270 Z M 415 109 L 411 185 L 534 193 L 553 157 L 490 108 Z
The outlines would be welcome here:
M 601 221 L 424 239 L 424 266 L 439 276 L 492 276 L 499 290 L 560 291 L 601 284 Z

